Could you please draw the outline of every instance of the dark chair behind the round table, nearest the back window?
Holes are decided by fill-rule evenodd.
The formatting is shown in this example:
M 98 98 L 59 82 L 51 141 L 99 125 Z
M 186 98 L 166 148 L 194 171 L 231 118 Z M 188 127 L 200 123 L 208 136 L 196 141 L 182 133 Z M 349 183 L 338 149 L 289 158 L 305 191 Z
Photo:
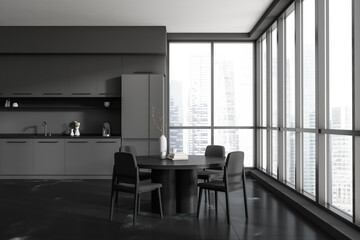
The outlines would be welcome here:
M 225 148 L 220 145 L 209 145 L 206 147 L 205 156 L 207 157 L 223 157 L 225 158 Z M 223 176 L 222 168 L 207 168 L 198 171 L 198 179 L 209 182 L 214 179 L 220 179 Z M 210 191 L 208 191 L 208 199 L 210 203 Z M 206 199 L 206 195 L 205 195 Z

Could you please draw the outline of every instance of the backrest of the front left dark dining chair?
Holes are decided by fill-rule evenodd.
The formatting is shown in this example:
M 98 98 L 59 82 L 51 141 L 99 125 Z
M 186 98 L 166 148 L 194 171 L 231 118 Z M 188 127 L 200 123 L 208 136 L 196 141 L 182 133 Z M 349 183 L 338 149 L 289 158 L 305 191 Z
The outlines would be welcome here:
M 137 184 L 139 172 L 134 154 L 117 152 L 114 155 L 114 177 L 117 182 Z

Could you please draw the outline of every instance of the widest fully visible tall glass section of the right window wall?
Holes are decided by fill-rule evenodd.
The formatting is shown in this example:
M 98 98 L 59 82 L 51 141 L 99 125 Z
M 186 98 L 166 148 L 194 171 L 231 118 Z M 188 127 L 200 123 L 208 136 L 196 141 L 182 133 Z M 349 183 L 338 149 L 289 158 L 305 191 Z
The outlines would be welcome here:
M 328 2 L 328 129 L 352 130 L 352 0 Z M 353 137 L 328 134 L 329 204 L 352 215 Z

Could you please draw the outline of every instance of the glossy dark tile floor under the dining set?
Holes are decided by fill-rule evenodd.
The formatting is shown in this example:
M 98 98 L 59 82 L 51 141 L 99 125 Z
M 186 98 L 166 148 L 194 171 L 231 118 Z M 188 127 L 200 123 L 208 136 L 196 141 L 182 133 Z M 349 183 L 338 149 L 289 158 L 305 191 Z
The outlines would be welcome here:
M 150 194 L 132 226 L 131 195 L 119 195 L 109 222 L 110 180 L 0 180 L 0 239 L 332 239 L 284 202 L 248 178 L 249 219 L 242 192 L 230 194 L 231 225 L 225 201 L 219 211 L 203 202 L 200 218 L 150 213 Z M 203 197 L 204 199 L 204 197 Z

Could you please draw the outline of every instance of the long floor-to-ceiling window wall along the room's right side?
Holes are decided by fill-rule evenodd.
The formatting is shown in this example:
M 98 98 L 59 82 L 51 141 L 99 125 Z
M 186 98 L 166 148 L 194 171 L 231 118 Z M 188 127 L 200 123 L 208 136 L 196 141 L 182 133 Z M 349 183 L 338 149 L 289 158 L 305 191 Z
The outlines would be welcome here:
M 359 54 L 354 50 L 358 44 L 354 29 L 359 23 L 354 13 L 360 13 L 359 4 L 354 10 L 356 4 L 354 0 L 296 0 L 258 39 L 257 93 L 261 96 L 257 101 L 261 110 L 257 112 L 261 114 L 257 128 L 259 133 L 271 130 L 271 137 L 258 134 L 257 166 L 358 223 L 360 211 L 355 210 L 360 201 L 355 198 L 360 196 L 356 190 L 360 183 L 354 177 L 354 166 L 359 156 L 354 139 L 359 131 L 354 121 L 359 115 L 355 99 L 360 93 L 354 91 L 359 81 L 354 71 L 354 56 Z M 267 48 L 262 44 L 264 36 L 271 37 Z M 264 83 L 266 74 L 271 76 Z M 266 113 L 272 116 L 264 125 L 262 115 Z M 272 156 L 263 169 L 267 146 Z

